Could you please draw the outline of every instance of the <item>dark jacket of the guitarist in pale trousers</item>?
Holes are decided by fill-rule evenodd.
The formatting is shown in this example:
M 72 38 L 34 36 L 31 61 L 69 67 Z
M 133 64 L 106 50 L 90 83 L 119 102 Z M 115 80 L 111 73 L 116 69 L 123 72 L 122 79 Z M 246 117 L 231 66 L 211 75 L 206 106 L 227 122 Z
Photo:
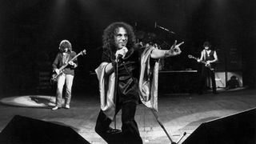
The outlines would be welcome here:
M 74 58 L 76 56 L 76 53 L 74 51 L 68 52 L 66 54 L 66 62 L 69 62 L 72 58 Z M 78 65 L 78 59 L 75 58 L 73 61 L 76 65 Z M 58 53 L 56 55 L 56 58 L 54 59 L 54 63 L 52 64 L 53 69 L 59 69 L 62 66 L 64 66 L 66 63 L 63 62 L 63 54 L 62 53 Z M 66 68 L 63 71 L 64 74 L 71 74 L 74 75 L 74 66 L 66 66 Z

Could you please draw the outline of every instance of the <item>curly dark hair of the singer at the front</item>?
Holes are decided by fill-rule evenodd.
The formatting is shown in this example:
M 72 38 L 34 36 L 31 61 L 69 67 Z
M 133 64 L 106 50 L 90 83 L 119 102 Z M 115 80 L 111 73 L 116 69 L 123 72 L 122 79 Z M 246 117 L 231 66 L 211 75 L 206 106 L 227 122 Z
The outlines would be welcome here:
M 134 34 L 134 29 L 132 26 L 126 22 L 113 22 L 110 26 L 107 26 L 102 35 L 103 50 L 109 50 L 110 53 L 114 53 L 116 47 L 114 46 L 114 35 L 117 33 L 117 29 L 123 27 L 128 35 L 127 48 L 134 48 L 136 38 Z

